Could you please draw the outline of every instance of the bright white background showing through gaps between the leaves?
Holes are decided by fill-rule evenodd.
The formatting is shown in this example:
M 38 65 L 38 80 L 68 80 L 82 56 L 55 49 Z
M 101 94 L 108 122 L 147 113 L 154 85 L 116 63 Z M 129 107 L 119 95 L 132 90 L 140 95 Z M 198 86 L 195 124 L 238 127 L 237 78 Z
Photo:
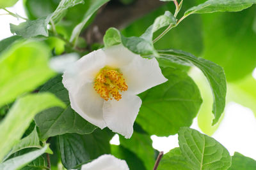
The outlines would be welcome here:
M 19 1 L 12 8 L 8 8 L 8 10 L 18 13 L 22 17 L 26 16 L 22 7 L 22 1 Z M 4 13 L 6 11 L 0 10 L 0 14 Z M 17 25 L 23 21 L 10 15 L 0 15 L 0 40 L 12 36 L 10 23 Z M 256 70 L 253 72 L 253 77 L 256 78 Z M 195 118 L 191 128 L 200 131 L 197 118 Z M 225 146 L 231 155 L 237 151 L 247 157 L 256 159 L 256 118 L 250 109 L 244 108 L 236 103 L 228 103 L 225 110 L 225 117 L 212 137 Z M 169 136 L 168 138 L 151 136 L 151 138 L 153 140 L 153 147 L 159 151 L 164 151 L 164 153 L 179 146 L 177 135 Z M 118 135 L 114 136 L 111 144 L 119 145 Z

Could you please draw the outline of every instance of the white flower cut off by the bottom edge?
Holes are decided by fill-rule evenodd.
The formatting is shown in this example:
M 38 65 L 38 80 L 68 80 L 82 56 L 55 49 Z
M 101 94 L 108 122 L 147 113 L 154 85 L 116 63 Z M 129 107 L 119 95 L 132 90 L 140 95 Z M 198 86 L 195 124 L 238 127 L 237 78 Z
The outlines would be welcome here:
M 101 155 L 88 164 L 84 164 L 81 170 L 129 170 L 125 160 L 117 159 L 113 155 Z

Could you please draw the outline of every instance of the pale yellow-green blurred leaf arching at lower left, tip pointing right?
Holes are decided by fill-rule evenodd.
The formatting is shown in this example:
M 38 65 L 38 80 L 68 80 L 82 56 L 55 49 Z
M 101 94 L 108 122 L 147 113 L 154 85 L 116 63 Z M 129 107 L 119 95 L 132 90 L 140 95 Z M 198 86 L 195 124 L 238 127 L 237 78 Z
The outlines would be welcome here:
M 19 141 L 36 113 L 52 106 L 65 107 L 59 99 L 49 93 L 30 94 L 18 99 L 0 124 L 0 162 L 4 155 Z

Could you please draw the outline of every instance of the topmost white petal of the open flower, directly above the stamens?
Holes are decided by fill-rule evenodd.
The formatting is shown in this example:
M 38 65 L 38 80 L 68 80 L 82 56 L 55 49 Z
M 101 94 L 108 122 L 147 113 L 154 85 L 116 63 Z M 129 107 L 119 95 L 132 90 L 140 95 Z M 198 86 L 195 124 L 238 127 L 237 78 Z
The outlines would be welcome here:
M 135 57 L 140 57 L 140 55 L 132 53 L 122 45 L 109 46 L 104 49 L 104 52 L 107 56 L 106 66 L 113 68 L 120 68 L 128 65 Z

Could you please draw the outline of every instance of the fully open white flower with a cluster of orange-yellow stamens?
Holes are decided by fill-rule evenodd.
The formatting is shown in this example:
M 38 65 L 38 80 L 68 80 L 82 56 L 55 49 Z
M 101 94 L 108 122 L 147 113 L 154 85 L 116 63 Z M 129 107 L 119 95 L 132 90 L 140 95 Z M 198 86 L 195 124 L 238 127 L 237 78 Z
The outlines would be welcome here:
M 136 96 L 167 81 L 157 60 L 144 59 L 122 45 L 100 49 L 74 63 L 63 74 L 71 107 L 101 129 L 109 127 L 131 138 L 141 106 Z

